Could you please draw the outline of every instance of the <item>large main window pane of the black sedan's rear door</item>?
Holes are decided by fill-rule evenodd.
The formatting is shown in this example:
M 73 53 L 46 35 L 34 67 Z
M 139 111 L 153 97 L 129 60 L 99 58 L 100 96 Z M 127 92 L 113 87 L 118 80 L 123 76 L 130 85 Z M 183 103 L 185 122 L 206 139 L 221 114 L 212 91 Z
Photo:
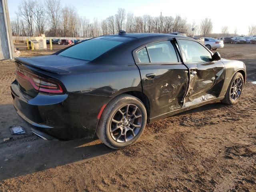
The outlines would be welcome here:
M 162 41 L 147 46 L 151 62 L 178 62 L 170 41 Z

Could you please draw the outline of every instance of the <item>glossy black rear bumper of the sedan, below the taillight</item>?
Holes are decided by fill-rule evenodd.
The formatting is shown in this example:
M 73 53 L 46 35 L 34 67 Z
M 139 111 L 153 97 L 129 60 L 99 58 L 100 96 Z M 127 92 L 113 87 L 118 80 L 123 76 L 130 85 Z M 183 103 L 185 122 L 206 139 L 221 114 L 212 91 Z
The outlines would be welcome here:
M 41 138 L 72 140 L 94 137 L 100 104 L 104 101 L 102 98 L 98 102 L 92 102 L 96 96 L 38 93 L 34 98 L 28 99 L 20 91 L 16 80 L 11 84 L 11 92 L 16 112 Z

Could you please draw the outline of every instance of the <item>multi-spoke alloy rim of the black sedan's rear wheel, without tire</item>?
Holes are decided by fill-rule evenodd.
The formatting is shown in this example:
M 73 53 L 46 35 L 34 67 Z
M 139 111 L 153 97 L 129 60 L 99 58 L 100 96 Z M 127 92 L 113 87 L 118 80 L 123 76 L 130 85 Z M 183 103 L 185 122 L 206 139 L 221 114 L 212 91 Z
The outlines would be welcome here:
M 142 126 L 142 113 L 134 104 L 119 108 L 110 122 L 110 135 L 118 143 L 132 140 Z

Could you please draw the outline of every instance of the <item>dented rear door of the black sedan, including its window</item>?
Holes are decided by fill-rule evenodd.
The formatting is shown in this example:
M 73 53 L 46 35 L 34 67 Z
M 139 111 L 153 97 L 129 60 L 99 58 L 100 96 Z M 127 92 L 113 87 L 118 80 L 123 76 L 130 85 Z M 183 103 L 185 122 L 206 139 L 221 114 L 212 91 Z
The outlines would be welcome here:
M 182 64 L 174 44 L 169 40 L 140 47 L 134 59 L 140 69 L 143 92 L 151 101 L 150 118 L 182 108 L 188 68 Z

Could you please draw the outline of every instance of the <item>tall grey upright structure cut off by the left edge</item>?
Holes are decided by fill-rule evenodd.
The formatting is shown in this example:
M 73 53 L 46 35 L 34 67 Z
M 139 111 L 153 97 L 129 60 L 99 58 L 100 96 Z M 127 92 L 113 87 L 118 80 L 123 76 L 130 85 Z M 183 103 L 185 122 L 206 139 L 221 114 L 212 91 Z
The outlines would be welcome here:
M 0 0 L 0 60 L 13 59 L 14 45 L 7 0 Z

